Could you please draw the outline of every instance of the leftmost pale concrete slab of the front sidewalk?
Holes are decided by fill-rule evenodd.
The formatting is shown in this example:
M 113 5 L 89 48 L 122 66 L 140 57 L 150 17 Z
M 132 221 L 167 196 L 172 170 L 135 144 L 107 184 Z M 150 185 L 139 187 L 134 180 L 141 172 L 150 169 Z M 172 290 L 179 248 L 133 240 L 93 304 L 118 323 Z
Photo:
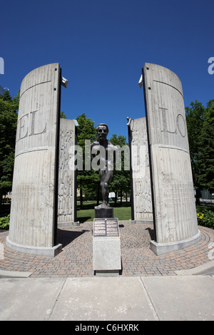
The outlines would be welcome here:
M 1 279 L 1 321 L 46 321 L 64 279 Z

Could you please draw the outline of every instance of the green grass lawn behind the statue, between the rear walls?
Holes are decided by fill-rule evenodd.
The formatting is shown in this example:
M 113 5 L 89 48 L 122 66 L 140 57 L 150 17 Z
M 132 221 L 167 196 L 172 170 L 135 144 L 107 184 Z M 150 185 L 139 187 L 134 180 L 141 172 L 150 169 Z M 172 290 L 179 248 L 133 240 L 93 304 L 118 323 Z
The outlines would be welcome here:
M 130 202 L 117 203 L 115 206 L 113 202 L 110 203 L 113 207 L 113 216 L 117 217 L 118 220 L 129 220 L 131 219 L 131 204 Z M 77 220 L 79 222 L 93 221 L 95 211 L 94 206 L 96 202 L 83 202 L 83 209 L 77 205 Z

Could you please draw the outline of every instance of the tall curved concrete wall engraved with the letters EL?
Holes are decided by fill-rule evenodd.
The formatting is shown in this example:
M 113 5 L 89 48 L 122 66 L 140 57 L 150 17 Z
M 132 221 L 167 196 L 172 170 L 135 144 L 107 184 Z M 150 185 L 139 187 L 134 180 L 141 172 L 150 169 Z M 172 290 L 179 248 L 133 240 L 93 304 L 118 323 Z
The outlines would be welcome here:
M 61 251 L 56 245 L 60 90 L 58 63 L 36 68 L 21 83 L 7 244 L 22 252 Z

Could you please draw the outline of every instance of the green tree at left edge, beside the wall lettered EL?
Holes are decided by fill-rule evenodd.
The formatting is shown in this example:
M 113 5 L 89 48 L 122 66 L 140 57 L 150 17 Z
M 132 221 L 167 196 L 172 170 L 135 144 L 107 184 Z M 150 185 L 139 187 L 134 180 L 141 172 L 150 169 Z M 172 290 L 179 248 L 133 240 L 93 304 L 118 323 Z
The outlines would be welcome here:
M 18 107 L 19 93 L 0 96 L 0 200 L 12 187 Z

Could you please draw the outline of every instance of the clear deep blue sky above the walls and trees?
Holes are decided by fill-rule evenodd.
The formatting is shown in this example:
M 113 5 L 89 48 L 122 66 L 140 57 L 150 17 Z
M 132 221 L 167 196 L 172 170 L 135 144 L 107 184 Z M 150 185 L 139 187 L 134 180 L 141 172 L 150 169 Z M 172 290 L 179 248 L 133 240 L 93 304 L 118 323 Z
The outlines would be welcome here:
M 1 1 L 0 85 L 16 96 L 27 73 L 60 63 L 68 87 L 61 110 L 126 135 L 126 117 L 145 116 L 144 63 L 175 72 L 185 106 L 214 98 L 213 0 Z

